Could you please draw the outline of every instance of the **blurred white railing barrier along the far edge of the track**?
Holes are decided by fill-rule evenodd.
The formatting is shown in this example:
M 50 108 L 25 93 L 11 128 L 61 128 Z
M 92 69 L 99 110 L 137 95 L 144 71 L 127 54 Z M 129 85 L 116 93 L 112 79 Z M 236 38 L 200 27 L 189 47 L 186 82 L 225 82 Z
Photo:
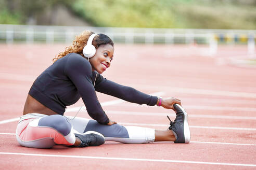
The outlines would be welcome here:
M 211 29 L 148 29 L 125 27 L 84 27 L 46 25 L 5 25 L 0 24 L 0 42 L 13 43 L 66 43 L 70 44 L 75 35 L 84 30 L 104 33 L 114 43 L 125 44 L 204 44 L 212 53 L 218 44 L 245 44 L 248 53 L 255 51 L 256 30 L 211 30 Z

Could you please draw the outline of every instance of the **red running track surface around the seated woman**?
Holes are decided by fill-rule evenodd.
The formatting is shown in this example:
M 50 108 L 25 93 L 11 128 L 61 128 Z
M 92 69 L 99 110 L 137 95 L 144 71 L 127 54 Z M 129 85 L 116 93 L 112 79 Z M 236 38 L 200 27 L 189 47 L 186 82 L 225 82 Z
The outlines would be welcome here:
M 206 47 L 115 46 L 112 66 L 103 76 L 146 93 L 164 92 L 164 97 L 180 98 L 189 116 L 190 144 L 107 142 L 99 147 L 55 146 L 53 149 L 19 146 L 13 135 L 17 121 L 3 121 L 21 116 L 34 79 L 64 48 L 65 45 L 0 46 L 1 168 L 256 168 L 256 69 L 218 62 L 227 56 L 245 55 L 246 47 L 223 47 L 216 56 L 209 57 L 203 56 L 208 52 Z M 98 94 L 98 98 L 101 103 L 116 100 L 104 94 Z M 72 107 L 81 105 L 80 100 Z M 168 128 L 165 115 L 174 119 L 172 110 L 160 107 L 121 103 L 104 106 L 104 109 L 110 119 L 117 122 L 161 130 Z M 88 118 L 86 112 L 80 112 L 79 116 Z

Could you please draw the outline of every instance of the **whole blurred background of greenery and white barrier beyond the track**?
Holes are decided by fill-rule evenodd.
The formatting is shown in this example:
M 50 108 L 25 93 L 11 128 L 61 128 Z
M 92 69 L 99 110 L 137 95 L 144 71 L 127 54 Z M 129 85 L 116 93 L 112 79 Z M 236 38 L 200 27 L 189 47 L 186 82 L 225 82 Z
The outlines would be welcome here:
M 83 30 L 114 43 L 204 45 L 210 56 L 239 45 L 252 59 L 256 0 L 0 1 L 2 44 L 70 44 Z

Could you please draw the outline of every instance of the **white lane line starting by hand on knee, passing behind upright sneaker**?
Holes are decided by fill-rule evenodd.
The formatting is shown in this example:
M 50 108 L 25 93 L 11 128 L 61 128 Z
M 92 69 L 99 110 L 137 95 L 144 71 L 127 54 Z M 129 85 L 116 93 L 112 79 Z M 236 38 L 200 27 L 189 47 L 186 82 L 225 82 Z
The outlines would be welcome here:
M 147 124 L 147 123 L 126 123 L 118 122 L 122 125 L 133 125 L 133 126 L 160 126 L 168 127 L 168 124 Z M 223 130 L 246 130 L 246 131 L 256 131 L 255 128 L 244 128 L 244 127 L 218 127 L 218 126 L 193 126 L 189 125 L 190 128 L 200 128 L 200 129 L 223 129 Z

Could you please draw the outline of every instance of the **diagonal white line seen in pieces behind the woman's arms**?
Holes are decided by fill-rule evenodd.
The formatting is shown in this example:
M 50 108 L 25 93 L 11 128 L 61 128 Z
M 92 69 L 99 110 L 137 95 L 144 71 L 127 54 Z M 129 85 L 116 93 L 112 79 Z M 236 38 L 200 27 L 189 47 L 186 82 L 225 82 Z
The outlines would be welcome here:
M 156 92 L 156 93 L 151 93 L 149 95 L 164 96 L 164 92 Z M 100 105 L 101 106 L 109 106 L 109 105 L 115 105 L 115 104 L 120 104 L 120 103 L 124 103 L 124 102 L 126 102 L 126 101 L 118 99 L 118 100 L 113 100 L 113 101 L 109 101 L 109 102 L 103 102 L 103 103 L 100 103 Z M 80 108 L 81 108 L 81 106 L 80 107 L 67 108 L 65 113 L 78 111 Z M 83 106 L 81 109 L 85 110 L 85 106 Z

